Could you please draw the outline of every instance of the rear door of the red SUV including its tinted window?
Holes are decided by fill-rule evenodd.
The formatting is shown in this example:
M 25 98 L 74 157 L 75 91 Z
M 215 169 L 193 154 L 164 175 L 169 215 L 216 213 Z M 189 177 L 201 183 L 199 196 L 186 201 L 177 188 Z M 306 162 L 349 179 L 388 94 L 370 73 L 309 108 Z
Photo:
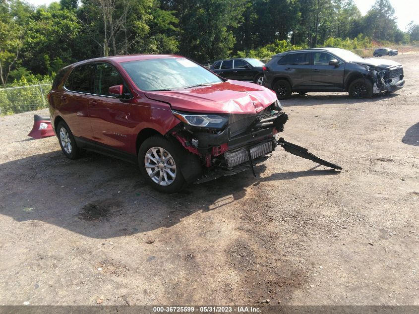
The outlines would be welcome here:
M 94 64 L 76 66 L 68 76 L 57 108 L 74 136 L 92 139 L 93 132 L 89 118 L 89 103 L 94 100 Z

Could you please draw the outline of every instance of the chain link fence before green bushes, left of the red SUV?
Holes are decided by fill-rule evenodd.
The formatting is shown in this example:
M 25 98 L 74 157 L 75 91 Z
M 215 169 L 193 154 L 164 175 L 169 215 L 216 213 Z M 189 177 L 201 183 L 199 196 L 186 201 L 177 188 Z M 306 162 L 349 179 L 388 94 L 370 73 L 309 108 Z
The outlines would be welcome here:
M 52 83 L 0 88 L 0 116 L 47 108 Z

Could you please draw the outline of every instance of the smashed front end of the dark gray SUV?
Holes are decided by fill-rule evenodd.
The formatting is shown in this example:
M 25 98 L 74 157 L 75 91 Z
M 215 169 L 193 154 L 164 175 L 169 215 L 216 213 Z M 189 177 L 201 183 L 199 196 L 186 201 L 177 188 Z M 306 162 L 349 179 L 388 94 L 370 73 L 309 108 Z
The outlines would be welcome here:
M 378 94 L 382 91 L 395 92 L 403 88 L 405 84 L 403 66 L 396 65 L 392 67 L 379 67 L 366 65 L 365 68 L 373 83 L 373 93 Z

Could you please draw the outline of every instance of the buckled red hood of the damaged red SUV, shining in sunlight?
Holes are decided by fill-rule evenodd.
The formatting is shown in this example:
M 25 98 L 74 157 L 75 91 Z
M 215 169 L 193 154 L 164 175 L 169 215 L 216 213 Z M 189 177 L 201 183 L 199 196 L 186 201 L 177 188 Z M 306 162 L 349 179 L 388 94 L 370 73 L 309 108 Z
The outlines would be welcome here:
M 174 91 L 146 92 L 145 95 L 169 103 L 172 109 L 199 113 L 258 113 L 277 99 L 266 87 L 234 80 Z

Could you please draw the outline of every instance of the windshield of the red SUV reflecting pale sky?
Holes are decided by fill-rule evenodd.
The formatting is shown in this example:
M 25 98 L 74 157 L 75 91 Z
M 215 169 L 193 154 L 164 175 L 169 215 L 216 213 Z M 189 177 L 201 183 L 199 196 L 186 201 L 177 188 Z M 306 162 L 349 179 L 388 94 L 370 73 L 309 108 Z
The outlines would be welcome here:
M 143 91 L 176 90 L 222 82 L 212 72 L 185 58 L 137 60 L 121 65 Z

